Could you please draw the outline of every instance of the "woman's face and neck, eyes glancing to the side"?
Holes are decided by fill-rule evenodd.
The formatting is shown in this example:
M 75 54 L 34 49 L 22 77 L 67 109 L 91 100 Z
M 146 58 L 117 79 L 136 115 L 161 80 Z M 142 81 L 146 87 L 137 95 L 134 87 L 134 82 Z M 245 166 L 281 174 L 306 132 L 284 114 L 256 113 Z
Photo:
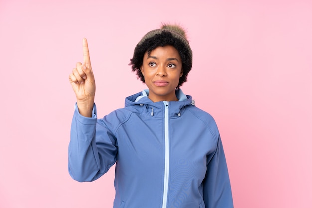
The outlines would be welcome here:
M 182 60 L 171 45 L 145 52 L 141 72 L 149 88 L 149 98 L 157 101 L 177 101 L 175 89 L 182 76 Z

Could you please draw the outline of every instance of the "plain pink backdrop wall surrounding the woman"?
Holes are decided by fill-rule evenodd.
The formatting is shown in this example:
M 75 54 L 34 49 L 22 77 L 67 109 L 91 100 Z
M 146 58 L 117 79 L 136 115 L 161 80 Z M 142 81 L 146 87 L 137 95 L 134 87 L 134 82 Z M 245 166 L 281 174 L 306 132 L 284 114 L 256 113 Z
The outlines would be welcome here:
M 111 208 L 114 169 L 72 180 L 68 75 L 89 42 L 99 117 L 145 88 L 128 66 L 161 22 L 187 28 L 182 86 L 214 116 L 236 208 L 312 207 L 311 0 L 0 0 L 0 208 Z

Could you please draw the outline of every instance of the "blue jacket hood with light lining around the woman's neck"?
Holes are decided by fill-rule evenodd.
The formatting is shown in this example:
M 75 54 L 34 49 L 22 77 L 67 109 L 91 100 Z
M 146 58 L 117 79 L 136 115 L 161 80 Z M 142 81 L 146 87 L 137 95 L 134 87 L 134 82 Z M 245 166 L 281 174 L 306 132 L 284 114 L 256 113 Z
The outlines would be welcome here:
M 176 94 L 183 92 L 180 89 L 176 90 Z M 184 94 L 183 94 L 184 95 Z M 138 101 L 136 99 L 142 96 Z M 142 92 L 136 93 L 134 95 L 128 96 L 125 99 L 125 107 L 138 105 L 145 108 L 147 114 L 151 116 L 163 116 L 163 111 L 165 109 L 165 105 L 169 106 L 169 115 L 172 117 L 181 116 L 181 113 L 188 106 L 195 106 L 195 101 L 192 100 L 192 96 L 185 95 L 186 99 L 183 101 L 158 101 L 153 102 L 147 96 L 143 96 Z

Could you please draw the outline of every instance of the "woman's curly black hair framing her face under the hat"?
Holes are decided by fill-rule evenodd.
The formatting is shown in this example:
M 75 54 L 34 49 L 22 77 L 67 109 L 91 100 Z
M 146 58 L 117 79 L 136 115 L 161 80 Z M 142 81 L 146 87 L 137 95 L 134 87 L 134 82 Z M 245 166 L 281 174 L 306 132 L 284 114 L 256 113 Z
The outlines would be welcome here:
M 185 44 L 181 40 L 174 38 L 169 31 L 164 30 L 160 34 L 146 39 L 142 44 L 138 44 L 134 50 L 133 58 L 130 59 L 129 65 L 131 65 L 132 71 L 137 73 L 138 79 L 140 78 L 140 80 L 145 83 L 144 76 L 140 70 L 145 52 L 147 51 L 148 54 L 150 54 L 155 48 L 166 45 L 173 46 L 179 52 L 182 59 L 183 75 L 180 77 L 179 84 L 176 87 L 178 89 L 187 81 L 187 75 L 192 69 L 192 54 L 189 54 L 190 52 Z

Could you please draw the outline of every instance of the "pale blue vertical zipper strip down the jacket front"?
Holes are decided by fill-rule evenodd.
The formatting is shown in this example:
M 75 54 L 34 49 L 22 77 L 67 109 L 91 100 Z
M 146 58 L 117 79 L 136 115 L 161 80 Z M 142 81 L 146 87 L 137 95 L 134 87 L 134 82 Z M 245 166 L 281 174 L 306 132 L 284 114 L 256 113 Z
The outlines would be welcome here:
M 170 151 L 169 151 L 169 102 L 163 101 L 164 111 L 164 139 L 165 139 L 165 163 L 164 163 L 164 185 L 163 185 L 163 201 L 162 208 L 167 208 L 168 187 L 169 187 L 169 167 L 170 167 Z

